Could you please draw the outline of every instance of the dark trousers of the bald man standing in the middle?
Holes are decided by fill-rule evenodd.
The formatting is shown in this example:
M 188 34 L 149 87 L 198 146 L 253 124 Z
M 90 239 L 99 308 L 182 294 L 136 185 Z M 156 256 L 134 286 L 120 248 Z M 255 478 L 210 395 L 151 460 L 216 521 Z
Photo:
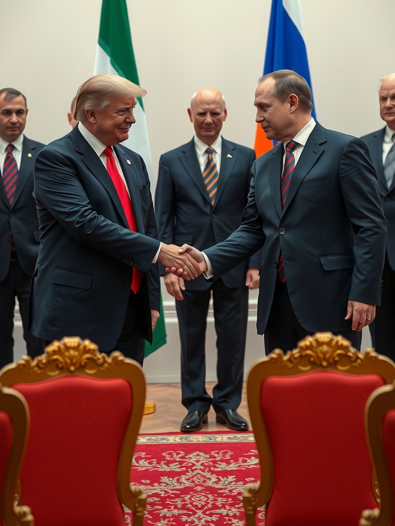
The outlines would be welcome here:
M 216 331 L 217 383 L 213 398 L 205 388 L 205 333 L 213 295 Z M 245 335 L 248 318 L 248 288 L 226 287 L 222 279 L 207 290 L 185 290 L 176 300 L 181 340 L 182 404 L 188 411 L 237 409 L 241 401 Z

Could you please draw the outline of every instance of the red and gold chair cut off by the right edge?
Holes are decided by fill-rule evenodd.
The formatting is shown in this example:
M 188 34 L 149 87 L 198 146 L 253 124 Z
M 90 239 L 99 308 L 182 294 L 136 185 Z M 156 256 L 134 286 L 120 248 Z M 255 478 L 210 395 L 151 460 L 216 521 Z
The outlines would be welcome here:
M 373 391 L 366 404 L 366 434 L 380 493 L 379 509 L 362 513 L 361 526 L 395 526 L 395 385 Z

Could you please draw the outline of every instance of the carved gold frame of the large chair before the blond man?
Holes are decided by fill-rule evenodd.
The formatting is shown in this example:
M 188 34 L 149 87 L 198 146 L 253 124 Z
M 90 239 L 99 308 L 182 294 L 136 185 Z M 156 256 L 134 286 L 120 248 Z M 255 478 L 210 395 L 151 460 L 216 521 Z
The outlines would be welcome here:
M 16 383 L 40 382 L 67 375 L 123 378 L 130 383 L 133 392 L 132 410 L 118 462 L 117 491 L 120 502 L 133 513 L 133 526 L 142 526 L 146 494 L 142 487 L 130 484 L 130 469 L 144 410 L 143 370 L 137 362 L 125 358 L 118 351 L 107 356 L 100 353 L 97 345 L 88 339 L 82 341 L 78 337 L 64 337 L 48 345 L 44 355 L 34 359 L 24 356 L 17 363 L 5 366 L 0 372 L 0 383 L 13 386 Z

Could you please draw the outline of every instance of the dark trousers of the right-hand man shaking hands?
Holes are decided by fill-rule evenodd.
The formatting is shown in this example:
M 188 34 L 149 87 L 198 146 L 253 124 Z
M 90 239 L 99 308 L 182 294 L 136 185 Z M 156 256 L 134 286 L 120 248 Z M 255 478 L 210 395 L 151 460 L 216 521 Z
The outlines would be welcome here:
M 317 308 L 319 308 L 319 305 Z M 274 349 L 281 349 L 284 352 L 292 350 L 298 346 L 300 340 L 311 334 L 310 331 L 300 325 L 295 316 L 289 299 L 287 285 L 283 284 L 280 279 L 277 279 L 268 325 L 264 333 L 266 355 Z M 333 334 L 340 334 L 351 341 L 352 347 L 356 349 L 361 348 L 362 331 L 346 330 L 333 332 Z

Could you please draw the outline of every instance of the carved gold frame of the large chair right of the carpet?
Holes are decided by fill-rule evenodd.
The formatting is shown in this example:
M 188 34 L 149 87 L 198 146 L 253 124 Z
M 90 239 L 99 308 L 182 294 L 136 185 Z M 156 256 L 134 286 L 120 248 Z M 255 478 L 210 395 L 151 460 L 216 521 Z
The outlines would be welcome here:
M 364 353 L 358 352 L 350 346 L 348 340 L 342 336 L 333 336 L 331 332 L 317 332 L 301 340 L 296 349 L 288 351 L 285 355 L 282 350 L 275 349 L 256 362 L 249 373 L 247 398 L 260 459 L 261 481 L 247 484 L 243 492 L 247 526 L 255 525 L 256 510 L 268 503 L 273 489 L 273 459 L 258 396 L 262 382 L 271 376 L 300 375 L 318 370 L 353 375 L 374 374 L 381 376 L 386 383 L 395 380 L 395 366 L 391 360 L 378 355 L 373 349 L 367 349 Z M 374 484 L 373 480 L 372 483 Z

